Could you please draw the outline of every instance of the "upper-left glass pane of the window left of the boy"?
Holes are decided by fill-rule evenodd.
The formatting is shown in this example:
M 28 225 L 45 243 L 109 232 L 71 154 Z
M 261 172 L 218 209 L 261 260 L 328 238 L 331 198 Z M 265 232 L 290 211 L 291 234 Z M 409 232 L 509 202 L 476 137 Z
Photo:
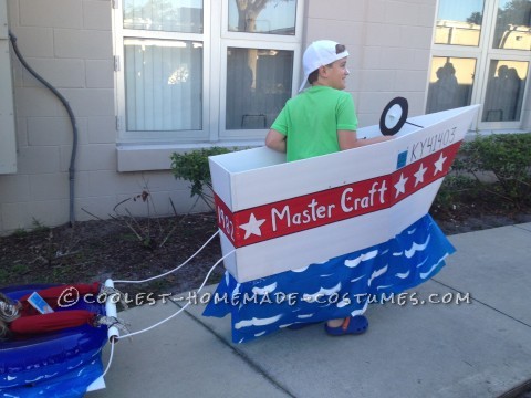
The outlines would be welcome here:
M 202 33 L 202 0 L 124 0 L 124 29 Z

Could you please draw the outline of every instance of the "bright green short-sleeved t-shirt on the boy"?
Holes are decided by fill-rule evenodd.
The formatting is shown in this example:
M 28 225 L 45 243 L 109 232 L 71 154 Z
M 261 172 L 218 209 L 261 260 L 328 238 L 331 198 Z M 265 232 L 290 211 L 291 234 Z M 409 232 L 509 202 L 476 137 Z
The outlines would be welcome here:
M 340 150 L 337 130 L 355 130 L 352 95 L 327 86 L 312 86 L 289 100 L 271 126 L 285 135 L 287 160 Z

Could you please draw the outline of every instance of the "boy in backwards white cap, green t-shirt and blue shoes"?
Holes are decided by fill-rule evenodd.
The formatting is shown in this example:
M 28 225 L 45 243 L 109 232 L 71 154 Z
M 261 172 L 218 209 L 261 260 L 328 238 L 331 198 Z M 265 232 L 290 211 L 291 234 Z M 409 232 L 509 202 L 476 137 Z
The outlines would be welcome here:
M 304 52 L 304 78 L 311 87 L 287 102 L 266 137 L 266 145 L 285 151 L 287 160 L 300 160 L 333 154 L 387 140 L 376 137 L 358 140 L 354 101 L 345 93 L 348 52 L 343 44 L 330 40 L 313 42 Z M 300 325 L 305 325 L 301 323 Z M 364 315 L 331 320 L 325 329 L 332 335 L 364 333 L 368 322 Z M 291 326 L 292 328 L 296 326 Z

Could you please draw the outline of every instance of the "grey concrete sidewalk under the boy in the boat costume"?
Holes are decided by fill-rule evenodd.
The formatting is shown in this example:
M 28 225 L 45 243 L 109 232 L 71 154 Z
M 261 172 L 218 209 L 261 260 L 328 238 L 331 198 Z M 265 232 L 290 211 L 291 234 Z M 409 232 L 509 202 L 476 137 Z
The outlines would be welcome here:
M 531 223 L 449 239 L 457 253 L 409 297 L 470 293 L 469 304 L 373 304 L 361 336 L 315 325 L 241 345 L 229 317 L 190 305 L 119 342 L 107 388 L 86 397 L 518 397 L 531 380 Z M 167 302 L 121 316 L 136 331 L 176 310 Z

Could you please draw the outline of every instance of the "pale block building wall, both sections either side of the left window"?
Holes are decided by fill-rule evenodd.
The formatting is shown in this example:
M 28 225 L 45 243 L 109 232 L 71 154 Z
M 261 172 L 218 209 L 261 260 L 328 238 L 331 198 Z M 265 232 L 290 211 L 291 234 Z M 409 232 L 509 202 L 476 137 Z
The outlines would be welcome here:
M 424 113 L 436 0 L 309 0 L 304 43 L 332 39 L 350 51 L 347 90 L 362 126 L 397 95 Z M 28 63 L 67 98 L 77 119 L 76 221 L 107 218 L 145 187 L 156 213 L 190 210 L 188 184 L 169 170 L 117 172 L 110 0 L 8 0 L 9 28 Z M 65 108 L 12 56 L 18 171 L 0 175 L 0 234 L 69 221 L 72 127 Z M 168 159 L 168 168 L 169 168 Z M 127 202 L 135 214 L 146 203 Z M 85 209 L 86 212 L 83 210 Z M 195 208 L 204 210 L 204 208 Z M 153 210 L 152 210 L 153 212 Z

